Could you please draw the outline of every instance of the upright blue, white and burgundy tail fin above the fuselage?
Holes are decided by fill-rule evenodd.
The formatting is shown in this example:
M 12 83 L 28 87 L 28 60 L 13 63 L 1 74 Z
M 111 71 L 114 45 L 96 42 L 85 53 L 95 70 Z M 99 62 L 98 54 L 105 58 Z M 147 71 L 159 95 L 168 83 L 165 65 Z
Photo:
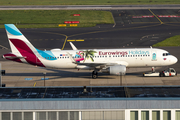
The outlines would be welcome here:
M 5 29 L 12 53 L 35 51 L 35 47 L 18 30 L 14 24 L 5 24 Z

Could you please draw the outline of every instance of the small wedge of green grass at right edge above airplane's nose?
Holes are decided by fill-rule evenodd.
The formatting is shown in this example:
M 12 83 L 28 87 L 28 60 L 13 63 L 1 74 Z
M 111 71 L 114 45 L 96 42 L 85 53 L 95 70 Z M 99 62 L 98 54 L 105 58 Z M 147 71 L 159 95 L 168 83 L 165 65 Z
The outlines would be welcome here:
M 166 40 L 153 45 L 153 47 L 166 47 L 166 46 L 180 46 L 180 35 L 167 38 Z

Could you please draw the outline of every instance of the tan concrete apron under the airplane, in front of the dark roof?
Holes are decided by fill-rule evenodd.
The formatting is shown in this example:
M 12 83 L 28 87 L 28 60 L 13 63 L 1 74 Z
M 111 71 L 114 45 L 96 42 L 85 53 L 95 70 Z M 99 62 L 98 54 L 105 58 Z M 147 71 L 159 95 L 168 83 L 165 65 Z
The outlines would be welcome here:
M 120 86 L 120 76 L 99 73 L 97 79 L 91 78 L 91 71 L 77 69 L 51 70 L 20 64 L 11 61 L 1 61 L 2 69 L 6 75 L 2 76 L 2 83 L 6 87 L 44 86 Z M 161 69 L 161 68 L 157 68 Z M 175 77 L 143 77 L 144 71 L 150 68 L 129 68 L 126 76 L 122 77 L 123 86 L 148 86 L 148 85 L 180 85 L 180 75 Z M 25 80 L 31 78 L 32 80 Z M 41 80 L 42 79 L 42 80 Z

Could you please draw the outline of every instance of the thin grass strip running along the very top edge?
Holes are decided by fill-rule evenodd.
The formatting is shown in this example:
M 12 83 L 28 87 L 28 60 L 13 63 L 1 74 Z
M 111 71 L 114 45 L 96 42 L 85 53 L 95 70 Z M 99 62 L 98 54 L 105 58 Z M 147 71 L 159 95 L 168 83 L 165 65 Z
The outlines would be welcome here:
M 180 0 L 0 0 L 0 5 L 180 4 Z

